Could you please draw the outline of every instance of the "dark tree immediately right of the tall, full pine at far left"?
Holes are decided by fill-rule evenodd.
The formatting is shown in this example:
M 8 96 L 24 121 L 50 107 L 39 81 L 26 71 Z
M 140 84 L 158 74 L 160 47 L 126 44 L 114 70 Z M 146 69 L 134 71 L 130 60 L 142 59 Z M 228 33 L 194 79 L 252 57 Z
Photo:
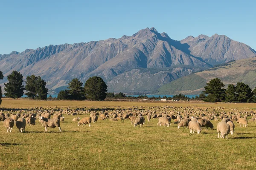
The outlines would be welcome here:
M 37 97 L 37 81 L 38 77 L 35 77 L 34 74 L 26 78 L 25 89 L 27 92 L 25 93 L 25 95 L 27 95 L 29 98 L 34 99 L 35 97 Z

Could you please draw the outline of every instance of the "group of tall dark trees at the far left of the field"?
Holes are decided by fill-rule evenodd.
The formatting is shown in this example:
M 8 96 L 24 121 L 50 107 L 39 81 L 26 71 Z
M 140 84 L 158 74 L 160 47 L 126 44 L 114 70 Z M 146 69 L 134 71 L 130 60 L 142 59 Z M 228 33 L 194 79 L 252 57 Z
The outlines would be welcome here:
M 3 79 L 3 73 L 0 71 L 0 79 Z M 26 90 L 26 94 L 32 99 L 47 99 L 48 89 L 46 88 L 46 82 L 40 76 L 35 75 L 26 77 L 26 86 L 23 85 L 23 75 L 17 71 L 12 71 L 11 74 L 7 76 L 8 82 L 5 85 L 4 94 L 7 97 L 13 99 L 20 98 Z M 1 88 L 0 88 L 1 90 Z M 0 97 L 2 97 L 2 91 L 0 92 Z

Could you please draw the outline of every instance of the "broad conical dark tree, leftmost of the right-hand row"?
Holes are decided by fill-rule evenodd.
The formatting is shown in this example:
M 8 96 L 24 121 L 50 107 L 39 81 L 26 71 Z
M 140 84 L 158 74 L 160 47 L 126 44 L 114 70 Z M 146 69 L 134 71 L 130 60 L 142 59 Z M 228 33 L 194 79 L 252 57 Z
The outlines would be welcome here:
M 205 102 L 221 102 L 225 99 L 225 85 L 220 79 L 211 79 L 206 85 L 203 91 L 204 94 L 208 94 L 204 99 Z

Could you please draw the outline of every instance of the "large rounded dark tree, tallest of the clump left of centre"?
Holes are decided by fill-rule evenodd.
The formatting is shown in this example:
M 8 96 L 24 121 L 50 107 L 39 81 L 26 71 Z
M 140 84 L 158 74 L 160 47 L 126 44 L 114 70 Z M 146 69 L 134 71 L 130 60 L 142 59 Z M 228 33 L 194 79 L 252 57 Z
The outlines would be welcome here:
M 108 86 L 100 77 L 90 77 L 84 84 L 84 93 L 91 100 L 103 101 L 107 96 Z

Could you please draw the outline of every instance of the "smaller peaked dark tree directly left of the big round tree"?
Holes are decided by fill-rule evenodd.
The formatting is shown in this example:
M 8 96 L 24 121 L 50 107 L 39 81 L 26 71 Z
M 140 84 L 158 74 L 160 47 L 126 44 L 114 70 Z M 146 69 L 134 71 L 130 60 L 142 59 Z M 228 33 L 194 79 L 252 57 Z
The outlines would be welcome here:
M 72 79 L 71 82 L 68 83 L 70 99 L 73 100 L 81 100 L 84 99 L 84 93 L 82 85 L 83 83 L 79 81 L 79 79 Z

